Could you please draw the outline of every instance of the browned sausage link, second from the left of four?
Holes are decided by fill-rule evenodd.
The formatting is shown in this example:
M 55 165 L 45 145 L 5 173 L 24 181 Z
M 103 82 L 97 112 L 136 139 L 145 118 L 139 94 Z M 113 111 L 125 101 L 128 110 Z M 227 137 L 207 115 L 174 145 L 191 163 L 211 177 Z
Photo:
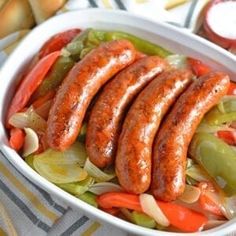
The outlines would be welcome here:
M 165 60 L 144 57 L 121 71 L 103 89 L 88 122 L 86 149 L 98 167 L 112 164 L 125 112 L 133 98 L 167 67 Z

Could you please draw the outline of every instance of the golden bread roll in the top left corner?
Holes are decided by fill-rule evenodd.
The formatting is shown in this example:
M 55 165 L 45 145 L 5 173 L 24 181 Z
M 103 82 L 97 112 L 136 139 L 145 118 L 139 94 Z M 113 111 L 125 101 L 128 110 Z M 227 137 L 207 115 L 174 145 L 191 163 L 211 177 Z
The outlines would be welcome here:
M 0 39 L 34 25 L 34 17 L 27 0 L 8 0 L 0 10 Z

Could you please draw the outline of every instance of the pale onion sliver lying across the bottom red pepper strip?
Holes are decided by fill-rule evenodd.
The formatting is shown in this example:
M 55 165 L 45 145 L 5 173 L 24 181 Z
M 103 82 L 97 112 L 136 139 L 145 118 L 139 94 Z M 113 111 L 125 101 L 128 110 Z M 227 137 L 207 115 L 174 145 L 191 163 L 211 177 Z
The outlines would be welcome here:
M 152 195 L 143 193 L 140 194 L 139 199 L 144 213 L 152 217 L 161 226 L 167 227 L 170 225 L 169 220 L 164 215 Z

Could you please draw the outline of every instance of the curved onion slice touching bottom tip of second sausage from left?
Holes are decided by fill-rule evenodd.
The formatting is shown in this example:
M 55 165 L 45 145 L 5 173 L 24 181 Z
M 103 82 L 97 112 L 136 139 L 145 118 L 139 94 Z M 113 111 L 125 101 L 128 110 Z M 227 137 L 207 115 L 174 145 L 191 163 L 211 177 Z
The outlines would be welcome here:
M 92 176 L 96 182 L 107 182 L 115 177 L 115 173 L 105 173 L 100 170 L 97 166 L 95 166 L 89 158 L 87 158 L 84 169 L 88 172 L 90 176 Z

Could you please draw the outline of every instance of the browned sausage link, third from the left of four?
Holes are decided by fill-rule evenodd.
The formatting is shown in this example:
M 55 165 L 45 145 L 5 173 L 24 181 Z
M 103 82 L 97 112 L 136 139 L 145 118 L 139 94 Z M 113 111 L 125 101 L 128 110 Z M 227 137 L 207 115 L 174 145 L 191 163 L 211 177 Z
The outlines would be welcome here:
M 140 194 L 151 182 L 152 144 L 161 119 L 191 82 L 188 70 L 171 70 L 156 77 L 139 94 L 122 127 L 116 155 L 121 186 Z

